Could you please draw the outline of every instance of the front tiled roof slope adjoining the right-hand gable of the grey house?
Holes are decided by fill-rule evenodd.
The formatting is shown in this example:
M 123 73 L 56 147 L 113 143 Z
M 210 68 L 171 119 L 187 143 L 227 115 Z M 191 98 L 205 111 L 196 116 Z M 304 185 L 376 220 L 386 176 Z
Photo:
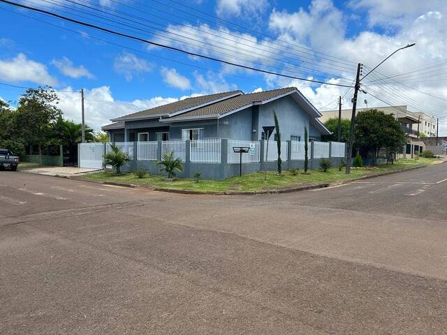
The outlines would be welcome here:
M 247 108 L 256 103 L 265 103 L 272 98 L 279 98 L 281 96 L 290 94 L 296 91 L 295 87 L 286 87 L 284 89 L 272 89 L 271 91 L 263 91 L 258 93 L 241 94 L 233 98 L 212 103 L 204 107 L 190 110 L 189 112 L 178 114 L 175 117 L 170 117 L 162 121 L 186 121 L 189 119 L 199 119 L 206 117 L 219 117 L 229 112 L 237 112 L 240 109 Z

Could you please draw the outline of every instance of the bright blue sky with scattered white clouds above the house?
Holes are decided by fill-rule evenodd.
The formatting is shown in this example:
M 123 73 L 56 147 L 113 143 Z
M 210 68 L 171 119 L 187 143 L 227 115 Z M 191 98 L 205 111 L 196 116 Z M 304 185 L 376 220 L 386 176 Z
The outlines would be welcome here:
M 443 12 L 442 1 L 404 2 L 408 6 L 402 6 L 402 1 L 385 0 L 182 1 L 186 6 L 171 0 L 21 1 L 192 52 L 339 84 L 349 84 L 358 61 L 372 67 L 387 52 L 413 40 L 418 40 L 419 49 L 397 54 L 381 68 L 381 75 L 421 69 L 441 64 L 445 59 L 447 43 L 443 32 L 447 13 Z M 80 4 L 94 5 L 96 10 Z M 50 84 L 65 91 L 83 88 L 87 122 L 94 128 L 120 114 L 175 101 L 191 92 L 210 94 L 232 89 L 251 92 L 293 85 L 317 107 L 331 109 L 336 98 L 347 91 L 344 87 L 309 84 L 223 66 L 4 4 L 0 4 L 0 22 L 0 82 L 21 87 Z M 424 73 L 420 74 L 423 77 Z M 414 89 L 447 98 L 444 77 L 437 81 L 433 78 L 417 81 L 417 76 L 402 79 L 411 86 L 411 89 L 399 88 L 403 96 L 390 94 L 389 89 L 379 86 L 374 87 L 375 95 L 396 105 L 404 105 L 408 98 L 412 110 L 437 112 L 437 116 L 446 120 L 444 100 L 421 95 Z M 22 91 L 0 84 L 0 97 L 6 101 L 16 101 Z M 349 107 L 351 95 L 347 92 L 345 107 Z M 66 117 L 78 121 L 78 94 L 60 92 L 59 96 Z M 384 105 L 372 96 L 365 98 L 369 105 Z

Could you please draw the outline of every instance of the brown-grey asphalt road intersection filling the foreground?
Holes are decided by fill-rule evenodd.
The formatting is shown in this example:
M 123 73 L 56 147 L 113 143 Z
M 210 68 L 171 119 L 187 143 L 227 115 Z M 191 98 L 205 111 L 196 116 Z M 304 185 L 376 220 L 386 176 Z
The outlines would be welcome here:
M 447 334 L 447 164 L 281 195 L 0 172 L 0 334 Z

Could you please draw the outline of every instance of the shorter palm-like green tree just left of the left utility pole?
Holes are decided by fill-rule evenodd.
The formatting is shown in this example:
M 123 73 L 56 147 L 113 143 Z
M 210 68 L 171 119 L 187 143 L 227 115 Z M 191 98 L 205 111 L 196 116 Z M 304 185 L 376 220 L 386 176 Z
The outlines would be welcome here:
M 94 141 L 93 129 L 85 125 L 85 141 Z M 62 144 L 68 148 L 70 154 L 70 161 L 75 161 L 75 151 L 78 143 L 82 141 L 82 124 L 76 124 L 71 120 L 64 120 L 61 116 L 57 118 L 57 121 L 52 127 L 52 138 L 55 143 Z

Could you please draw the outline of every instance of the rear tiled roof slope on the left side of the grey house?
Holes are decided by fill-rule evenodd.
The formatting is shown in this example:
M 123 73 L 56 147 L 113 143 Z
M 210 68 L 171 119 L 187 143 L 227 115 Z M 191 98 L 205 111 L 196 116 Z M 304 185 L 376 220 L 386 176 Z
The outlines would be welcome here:
M 233 96 L 239 96 L 243 94 L 242 91 L 228 91 L 217 94 L 209 94 L 207 96 L 195 96 L 193 98 L 186 98 L 183 100 L 175 101 L 175 103 L 168 103 L 166 105 L 149 108 L 149 110 L 142 110 L 131 114 L 126 114 L 110 121 L 130 121 L 133 119 L 147 119 L 150 117 L 166 117 L 183 112 L 188 112 L 193 108 L 204 107 L 210 103 L 216 103 L 222 99 L 230 98 Z

